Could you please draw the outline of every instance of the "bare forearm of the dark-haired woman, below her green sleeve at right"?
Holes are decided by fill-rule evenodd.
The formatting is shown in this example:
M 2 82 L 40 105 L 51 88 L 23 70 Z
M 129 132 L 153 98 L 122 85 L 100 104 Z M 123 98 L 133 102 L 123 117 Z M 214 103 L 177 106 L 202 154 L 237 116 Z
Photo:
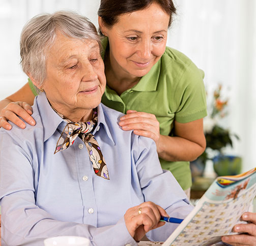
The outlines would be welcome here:
M 160 135 L 157 153 L 159 158 L 167 161 L 193 161 L 205 150 L 200 145 L 178 136 Z

